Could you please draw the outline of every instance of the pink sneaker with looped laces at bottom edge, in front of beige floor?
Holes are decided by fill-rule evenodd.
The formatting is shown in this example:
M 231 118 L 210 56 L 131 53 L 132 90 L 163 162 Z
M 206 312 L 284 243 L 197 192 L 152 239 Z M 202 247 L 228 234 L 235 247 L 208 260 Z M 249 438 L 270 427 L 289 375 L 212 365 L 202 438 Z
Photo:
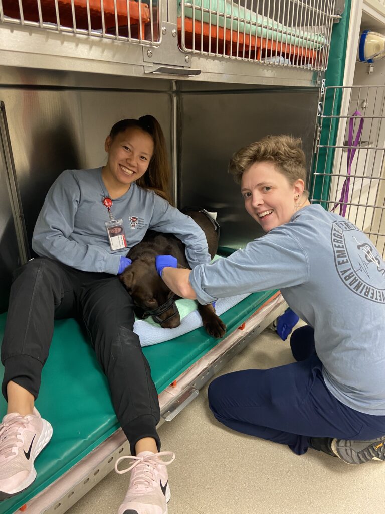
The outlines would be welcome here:
M 162 461 L 161 456 L 168 455 L 171 460 Z M 118 470 L 118 464 L 125 458 L 134 463 L 123 471 Z M 175 453 L 162 451 L 152 453 L 143 451 L 136 457 L 128 455 L 120 457 L 115 464 L 119 474 L 132 470 L 128 491 L 118 514 L 167 514 L 167 503 L 171 493 L 168 485 L 167 468 L 175 459 Z

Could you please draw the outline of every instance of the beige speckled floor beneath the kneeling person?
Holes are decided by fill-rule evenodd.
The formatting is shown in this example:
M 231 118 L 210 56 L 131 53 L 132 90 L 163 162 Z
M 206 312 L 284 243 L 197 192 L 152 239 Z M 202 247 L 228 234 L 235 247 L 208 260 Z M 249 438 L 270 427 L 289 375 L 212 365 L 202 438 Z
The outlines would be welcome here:
M 293 362 L 288 342 L 266 329 L 222 370 L 272 368 Z M 309 450 L 232 432 L 207 405 L 207 386 L 160 428 L 169 468 L 168 514 L 385 514 L 385 464 L 349 466 Z M 68 514 L 116 514 L 127 475 L 110 473 Z

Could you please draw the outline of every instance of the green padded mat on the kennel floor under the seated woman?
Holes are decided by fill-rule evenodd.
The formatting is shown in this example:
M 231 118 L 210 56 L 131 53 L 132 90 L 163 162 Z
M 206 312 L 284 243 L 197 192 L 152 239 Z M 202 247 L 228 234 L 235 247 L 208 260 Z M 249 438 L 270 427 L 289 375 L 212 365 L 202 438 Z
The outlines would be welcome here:
M 221 316 L 233 332 L 276 290 L 253 293 Z M 0 315 L 0 337 L 6 313 Z M 203 327 L 171 341 L 143 349 L 158 392 L 163 391 L 191 364 L 218 343 Z M 3 377 L 3 367 L 0 376 Z M 111 435 L 119 424 L 114 414 L 107 380 L 74 319 L 55 321 L 49 358 L 43 368 L 42 388 L 36 408 L 53 426 L 50 443 L 37 458 L 37 478 L 30 489 L 0 503 L 1 514 L 11 514 L 79 462 Z M 0 412 L 6 402 L 0 399 Z M 28 512 L 28 510 L 27 510 Z

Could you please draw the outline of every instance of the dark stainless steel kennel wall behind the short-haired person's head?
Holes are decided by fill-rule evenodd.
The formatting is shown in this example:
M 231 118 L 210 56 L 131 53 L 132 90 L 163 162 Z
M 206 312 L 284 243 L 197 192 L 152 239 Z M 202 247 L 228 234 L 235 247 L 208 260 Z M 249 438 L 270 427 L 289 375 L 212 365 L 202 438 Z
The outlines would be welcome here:
M 181 98 L 179 205 L 218 212 L 222 246 L 263 234 L 227 173 L 232 154 L 267 134 L 301 136 L 310 169 L 318 91 L 185 94 Z

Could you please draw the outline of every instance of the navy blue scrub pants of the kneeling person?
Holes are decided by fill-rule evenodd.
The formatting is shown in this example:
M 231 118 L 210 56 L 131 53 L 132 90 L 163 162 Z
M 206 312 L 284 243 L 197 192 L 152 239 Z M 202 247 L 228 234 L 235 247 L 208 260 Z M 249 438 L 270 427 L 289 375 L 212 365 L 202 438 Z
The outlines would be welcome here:
M 366 440 L 385 434 L 385 416 L 358 412 L 330 393 L 315 353 L 313 328 L 297 328 L 291 347 L 299 362 L 229 373 L 210 383 L 209 406 L 218 421 L 288 445 L 297 455 L 307 451 L 310 437 Z

